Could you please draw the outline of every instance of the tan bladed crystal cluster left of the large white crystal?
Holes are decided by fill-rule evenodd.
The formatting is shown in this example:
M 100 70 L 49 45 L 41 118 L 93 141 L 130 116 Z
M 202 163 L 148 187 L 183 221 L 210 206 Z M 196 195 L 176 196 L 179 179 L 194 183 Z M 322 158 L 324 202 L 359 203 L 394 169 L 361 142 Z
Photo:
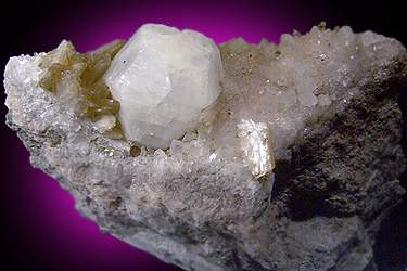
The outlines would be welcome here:
M 80 54 L 69 41 L 63 40 L 55 50 L 41 54 L 39 86 L 53 92 L 74 116 L 87 117 L 101 133 L 120 138 L 115 116 L 119 103 L 112 98 L 102 76 L 125 43 L 115 40 Z

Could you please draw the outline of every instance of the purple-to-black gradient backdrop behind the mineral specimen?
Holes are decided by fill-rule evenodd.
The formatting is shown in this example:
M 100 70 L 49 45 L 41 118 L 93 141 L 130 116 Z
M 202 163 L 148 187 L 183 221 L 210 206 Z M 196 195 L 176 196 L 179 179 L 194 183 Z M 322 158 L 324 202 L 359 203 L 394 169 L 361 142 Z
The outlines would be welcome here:
M 237 37 L 278 43 L 283 33 L 305 34 L 325 21 L 331 28 L 372 29 L 406 44 L 403 27 L 397 27 L 404 8 L 391 1 L 384 7 L 368 4 L 365 10 L 330 1 L 23 1 L 8 4 L 8 15 L 1 17 L 1 64 L 12 55 L 50 51 L 62 39 L 71 40 L 79 52 L 93 50 L 129 38 L 144 23 L 199 30 L 216 43 Z M 5 112 L 2 106 L 1 115 Z M 72 196 L 55 180 L 30 166 L 15 133 L 5 125 L 0 132 L 1 269 L 11 263 L 9 270 L 179 270 L 100 233 L 96 223 L 79 216 Z M 380 270 L 407 266 L 405 208 L 398 207 L 383 225 L 376 247 Z

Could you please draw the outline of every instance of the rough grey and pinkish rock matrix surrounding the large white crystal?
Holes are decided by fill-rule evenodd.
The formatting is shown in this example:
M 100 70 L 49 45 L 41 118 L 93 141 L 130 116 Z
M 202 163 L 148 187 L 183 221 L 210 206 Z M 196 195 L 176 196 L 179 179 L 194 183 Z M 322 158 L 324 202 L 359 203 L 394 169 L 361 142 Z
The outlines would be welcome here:
M 220 113 L 169 150 L 98 130 L 113 126 L 116 112 L 91 118 L 66 109 L 74 100 L 62 99 L 63 88 L 40 86 L 47 54 L 10 60 L 8 125 L 82 216 L 185 269 L 373 268 L 374 233 L 404 193 L 405 48 L 371 31 L 320 26 L 283 35 L 279 46 L 237 39 L 219 50 Z M 60 75 L 77 70 L 65 66 Z M 61 78 L 62 86 L 71 77 Z M 82 96 L 80 104 L 94 105 Z M 276 168 L 267 178 L 251 175 L 237 137 L 242 119 L 268 125 Z

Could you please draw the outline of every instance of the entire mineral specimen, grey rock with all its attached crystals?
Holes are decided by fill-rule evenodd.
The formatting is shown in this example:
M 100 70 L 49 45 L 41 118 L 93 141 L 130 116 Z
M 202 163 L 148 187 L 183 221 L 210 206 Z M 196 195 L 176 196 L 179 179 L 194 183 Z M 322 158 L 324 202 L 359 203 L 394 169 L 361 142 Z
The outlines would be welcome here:
M 187 270 L 374 270 L 405 193 L 403 44 L 323 24 L 219 51 L 158 25 L 123 43 L 4 72 L 7 124 L 82 216 Z

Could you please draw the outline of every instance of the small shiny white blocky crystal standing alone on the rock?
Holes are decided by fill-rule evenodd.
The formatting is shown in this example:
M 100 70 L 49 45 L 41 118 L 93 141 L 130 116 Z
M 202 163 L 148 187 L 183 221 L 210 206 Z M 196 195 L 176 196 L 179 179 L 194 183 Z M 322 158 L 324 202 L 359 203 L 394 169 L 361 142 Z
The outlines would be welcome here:
M 252 163 L 252 175 L 256 178 L 269 173 L 276 166 L 267 124 L 242 119 L 238 124 L 240 150 Z

